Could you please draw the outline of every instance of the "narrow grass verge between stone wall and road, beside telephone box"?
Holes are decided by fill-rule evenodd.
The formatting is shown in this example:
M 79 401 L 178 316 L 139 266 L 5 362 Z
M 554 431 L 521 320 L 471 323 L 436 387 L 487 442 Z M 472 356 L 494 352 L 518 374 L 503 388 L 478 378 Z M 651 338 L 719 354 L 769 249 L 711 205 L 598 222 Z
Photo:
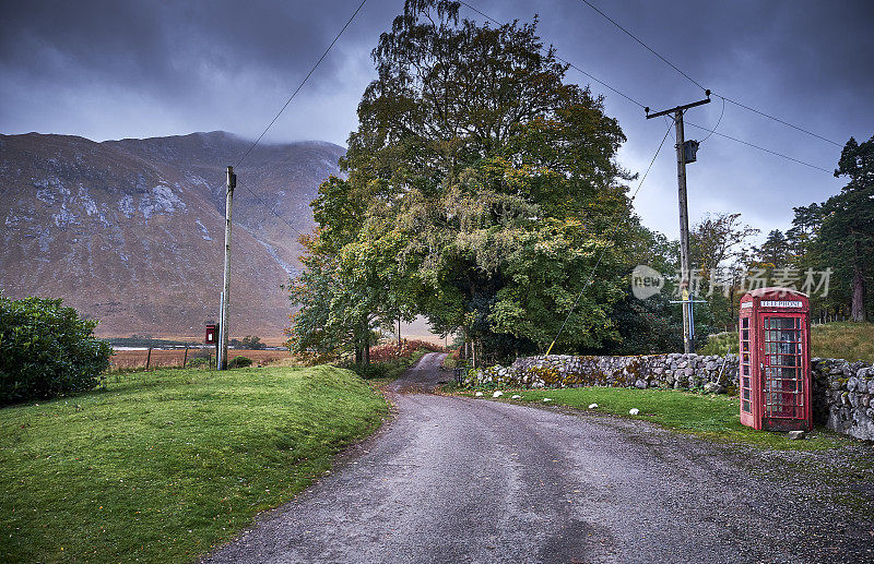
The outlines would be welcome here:
M 674 389 L 629 389 L 619 387 L 576 387 L 562 389 L 504 389 L 501 400 L 540 403 L 552 398 L 548 405 L 581 408 L 589 412 L 606 412 L 633 419 L 641 419 L 664 428 L 690 433 L 704 439 L 739 443 L 780 451 L 818 451 L 835 448 L 853 441 L 826 429 L 817 429 L 805 441 L 790 441 L 784 433 L 755 431 L 741 424 L 740 405 L 736 397 L 724 395 L 698 395 Z M 484 392 L 489 397 L 491 392 Z M 508 399 L 512 394 L 521 400 Z M 589 410 L 598 404 L 597 410 Z M 640 413 L 628 415 L 631 408 Z

